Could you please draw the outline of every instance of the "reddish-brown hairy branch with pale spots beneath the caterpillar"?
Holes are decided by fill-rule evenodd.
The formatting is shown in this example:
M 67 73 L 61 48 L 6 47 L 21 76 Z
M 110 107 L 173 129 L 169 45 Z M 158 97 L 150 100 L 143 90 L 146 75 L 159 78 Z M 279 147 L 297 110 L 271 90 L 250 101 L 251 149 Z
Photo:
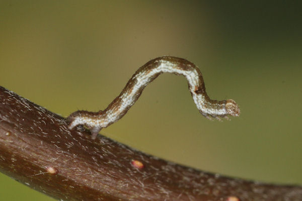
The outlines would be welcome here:
M 0 170 L 62 200 L 302 200 L 283 186 L 202 172 L 136 151 L 0 86 Z

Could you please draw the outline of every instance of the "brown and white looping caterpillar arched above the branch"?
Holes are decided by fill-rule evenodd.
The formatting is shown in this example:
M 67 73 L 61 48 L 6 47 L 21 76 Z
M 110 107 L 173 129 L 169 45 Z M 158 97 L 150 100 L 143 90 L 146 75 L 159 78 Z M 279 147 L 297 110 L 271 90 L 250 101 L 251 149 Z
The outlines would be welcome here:
M 234 100 L 218 101 L 208 97 L 202 74 L 196 65 L 186 59 L 164 56 L 150 60 L 141 66 L 132 75 L 119 96 L 104 111 L 96 113 L 77 111 L 69 115 L 67 118 L 67 121 L 70 122 L 68 128 L 85 125 L 90 129 L 92 139 L 95 139 L 102 128 L 106 128 L 121 119 L 136 102 L 145 86 L 164 72 L 183 75 L 187 78 L 194 103 L 204 117 L 220 120 L 219 117 L 228 119 L 228 115 L 234 117 L 240 115 L 240 109 Z

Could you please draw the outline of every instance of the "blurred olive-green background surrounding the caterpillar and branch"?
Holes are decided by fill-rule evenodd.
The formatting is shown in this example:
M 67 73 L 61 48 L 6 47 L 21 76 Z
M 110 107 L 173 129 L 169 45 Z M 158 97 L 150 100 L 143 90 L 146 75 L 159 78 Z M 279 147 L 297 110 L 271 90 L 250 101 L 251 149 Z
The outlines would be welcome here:
M 239 118 L 206 120 L 186 79 L 163 74 L 101 133 L 194 168 L 302 184 L 301 8 L 299 1 L 0 1 L 0 85 L 66 117 L 105 109 L 150 59 L 186 58 L 211 98 L 236 100 Z M 0 179 L 3 200 L 53 200 Z

